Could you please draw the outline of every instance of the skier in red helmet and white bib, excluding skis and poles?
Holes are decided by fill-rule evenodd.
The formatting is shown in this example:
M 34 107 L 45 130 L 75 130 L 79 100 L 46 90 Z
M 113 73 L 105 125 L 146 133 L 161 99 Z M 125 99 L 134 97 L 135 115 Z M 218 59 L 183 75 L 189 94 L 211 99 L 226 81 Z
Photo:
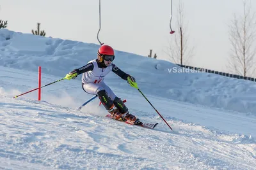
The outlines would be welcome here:
M 77 75 L 83 73 L 82 88 L 84 92 L 97 95 L 113 118 L 116 120 L 122 118 L 135 121 L 137 118 L 129 113 L 123 101 L 119 97 L 116 97 L 110 87 L 104 83 L 104 77 L 110 71 L 113 71 L 124 80 L 127 80 L 129 77 L 131 81 L 136 82 L 134 77 L 124 73 L 124 71 L 112 63 L 114 59 L 115 53 L 113 48 L 108 45 L 102 45 L 98 50 L 97 59 L 91 60 L 83 67 L 74 69 L 69 74 L 74 79 Z

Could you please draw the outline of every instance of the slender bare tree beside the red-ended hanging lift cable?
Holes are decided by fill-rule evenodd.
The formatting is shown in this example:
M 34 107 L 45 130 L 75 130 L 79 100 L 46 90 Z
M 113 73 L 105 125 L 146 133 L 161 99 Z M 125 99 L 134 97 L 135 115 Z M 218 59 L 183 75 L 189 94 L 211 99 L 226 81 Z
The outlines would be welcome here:
M 168 55 L 172 58 L 173 62 L 176 64 L 184 64 L 188 62 L 188 59 L 193 56 L 194 47 L 189 48 L 188 45 L 188 24 L 184 24 L 184 3 L 182 0 L 179 1 L 178 19 L 177 25 L 179 25 L 179 34 L 173 34 L 168 46 Z

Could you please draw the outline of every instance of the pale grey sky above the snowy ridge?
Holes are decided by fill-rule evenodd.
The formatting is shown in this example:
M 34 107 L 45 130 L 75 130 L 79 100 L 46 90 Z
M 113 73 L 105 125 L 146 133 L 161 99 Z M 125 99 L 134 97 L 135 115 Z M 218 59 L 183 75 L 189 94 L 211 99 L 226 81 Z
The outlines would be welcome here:
M 145 56 L 153 49 L 159 59 L 168 59 L 164 51 L 168 41 L 174 38 L 169 34 L 170 2 L 102 0 L 100 41 L 116 50 Z M 189 64 L 228 71 L 228 24 L 234 13 L 243 12 L 243 0 L 183 2 L 189 45 L 195 46 L 195 55 Z M 172 29 L 176 33 L 178 4 L 178 0 L 173 0 Z M 0 18 L 8 20 L 8 29 L 12 31 L 31 33 L 40 22 L 46 36 L 99 44 L 99 0 L 1 0 L 0 5 Z M 252 10 L 256 11 L 254 0 Z

